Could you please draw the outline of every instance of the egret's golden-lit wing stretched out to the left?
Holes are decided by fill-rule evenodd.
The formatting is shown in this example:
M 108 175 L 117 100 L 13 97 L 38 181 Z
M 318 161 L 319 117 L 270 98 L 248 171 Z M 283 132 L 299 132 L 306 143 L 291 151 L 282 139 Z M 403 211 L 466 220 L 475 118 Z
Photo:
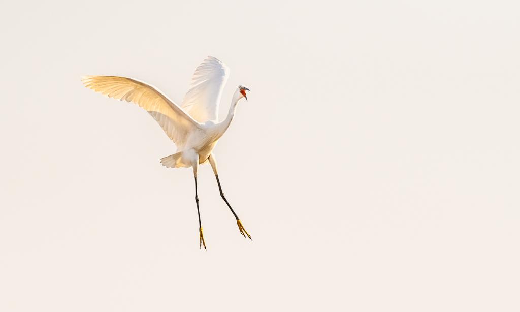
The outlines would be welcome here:
M 177 147 L 185 144 L 193 129 L 201 127 L 159 89 L 142 81 L 117 76 L 83 76 L 81 80 L 85 87 L 97 93 L 134 102 L 147 110 Z

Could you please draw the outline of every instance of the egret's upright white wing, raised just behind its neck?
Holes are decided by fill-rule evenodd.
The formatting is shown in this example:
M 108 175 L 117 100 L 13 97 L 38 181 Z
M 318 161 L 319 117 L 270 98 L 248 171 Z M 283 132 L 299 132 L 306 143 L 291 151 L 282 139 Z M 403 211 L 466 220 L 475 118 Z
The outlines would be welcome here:
M 217 122 L 218 104 L 228 77 L 226 64 L 215 57 L 207 57 L 195 70 L 180 107 L 200 123 Z

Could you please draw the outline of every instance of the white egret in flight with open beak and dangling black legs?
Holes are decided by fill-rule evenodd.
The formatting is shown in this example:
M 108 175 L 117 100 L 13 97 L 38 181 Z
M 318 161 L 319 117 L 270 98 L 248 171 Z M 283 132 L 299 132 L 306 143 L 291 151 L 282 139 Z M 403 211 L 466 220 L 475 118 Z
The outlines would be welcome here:
M 175 143 L 177 152 L 161 159 L 168 168 L 193 168 L 195 178 L 195 202 L 199 216 L 199 248 L 206 249 L 197 194 L 197 171 L 199 165 L 209 162 L 217 179 L 220 197 L 237 219 L 240 233 L 251 239 L 240 218 L 224 196 L 218 179 L 217 162 L 213 149 L 227 131 L 240 99 L 248 99 L 249 88 L 239 85 L 231 99 L 229 112 L 223 121 L 218 121 L 218 105 L 222 90 L 229 77 L 229 68 L 215 57 L 207 57 L 195 70 L 188 92 L 180 105 L 168 98 L 158 88 L 137 79 L 118 76 L 83 76 L 85 87 L 116 100 L 133 102 L 144 108 L 161 125 Z

